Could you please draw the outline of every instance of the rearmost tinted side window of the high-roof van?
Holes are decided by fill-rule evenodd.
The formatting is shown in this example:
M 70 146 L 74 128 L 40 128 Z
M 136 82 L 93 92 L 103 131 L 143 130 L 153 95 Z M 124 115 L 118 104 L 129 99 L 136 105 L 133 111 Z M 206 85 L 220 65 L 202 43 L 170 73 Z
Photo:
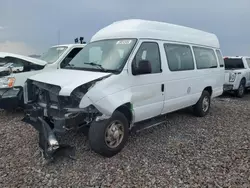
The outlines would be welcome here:
M 197 69 L 217 68 L 218 63 L 214 50 L 203 47 L 193 47 Z

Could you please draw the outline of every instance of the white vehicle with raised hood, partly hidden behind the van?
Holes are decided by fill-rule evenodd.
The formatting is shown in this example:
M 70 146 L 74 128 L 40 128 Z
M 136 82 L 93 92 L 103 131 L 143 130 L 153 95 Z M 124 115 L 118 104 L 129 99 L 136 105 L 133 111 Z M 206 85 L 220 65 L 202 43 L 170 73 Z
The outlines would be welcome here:
M 41 71 L 63 68 L 84 46 L 52 46 L 39 59 L 0 52 L 0 108 L 7 110 L 22 106 L 23 86 L 28 77 Z

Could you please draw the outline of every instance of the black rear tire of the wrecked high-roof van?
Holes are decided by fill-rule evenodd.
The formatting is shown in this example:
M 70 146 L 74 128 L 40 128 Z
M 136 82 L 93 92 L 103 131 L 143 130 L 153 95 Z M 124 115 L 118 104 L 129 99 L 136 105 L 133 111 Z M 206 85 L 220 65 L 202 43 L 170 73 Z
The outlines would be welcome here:
M 203 108 L 204 100 L 208 100 L 208 107 L 207 108 Z M 210 109 L 210 103 L 211 103 L 210 93 L 208 91 L 204 90 L 201 94 L 200 99 L 194 105 L 194 115 L 198 116 L 198 117 L 206 116 L 209 112 L 209 109 Z

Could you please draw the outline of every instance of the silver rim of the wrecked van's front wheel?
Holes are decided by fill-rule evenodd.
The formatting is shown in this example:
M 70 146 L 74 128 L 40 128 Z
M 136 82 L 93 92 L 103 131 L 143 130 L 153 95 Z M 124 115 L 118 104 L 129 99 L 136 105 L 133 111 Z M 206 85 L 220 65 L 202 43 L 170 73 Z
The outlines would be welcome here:
M 109 124 L 105 131 L 105 143 L 109 148 L 118 147 L 124 137 L 124 126 L 118 120 Z

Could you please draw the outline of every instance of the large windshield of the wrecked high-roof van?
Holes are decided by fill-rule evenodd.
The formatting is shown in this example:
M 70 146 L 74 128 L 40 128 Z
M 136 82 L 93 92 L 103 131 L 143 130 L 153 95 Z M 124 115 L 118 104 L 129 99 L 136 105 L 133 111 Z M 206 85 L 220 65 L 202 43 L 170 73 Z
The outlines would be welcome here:
M 136 39 L 109 39 L 89 43 L 65 69 L 119 72 L 135 43 Z

